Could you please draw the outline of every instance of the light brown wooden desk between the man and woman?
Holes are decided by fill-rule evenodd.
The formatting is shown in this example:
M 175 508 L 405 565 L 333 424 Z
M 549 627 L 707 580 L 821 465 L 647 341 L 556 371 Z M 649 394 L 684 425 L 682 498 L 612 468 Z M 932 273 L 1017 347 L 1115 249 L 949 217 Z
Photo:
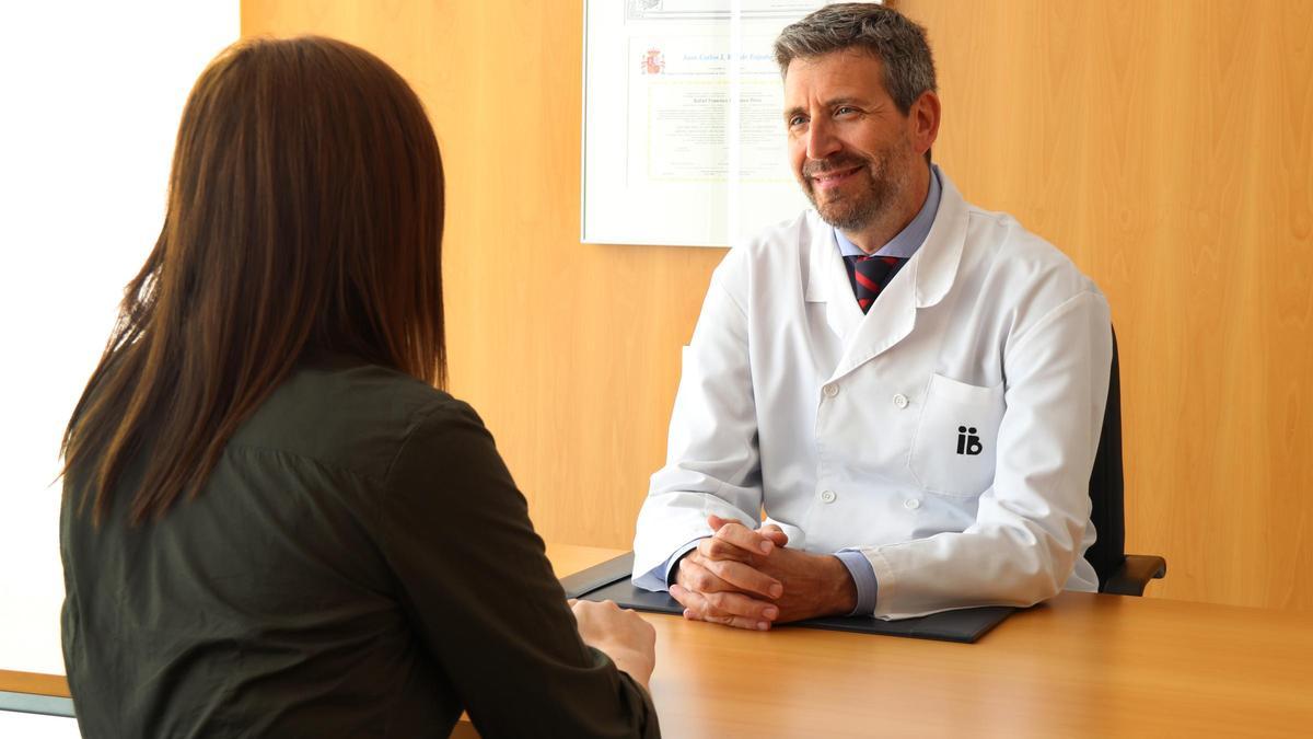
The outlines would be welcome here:
M 617 554 L 548 548 L 558 575 Z M 1313 735 L 1313 613 L 1064 593 L 976 644 L 647 621 L 676 739 Z M 67 684 L 0 671 L 0 690 Z

